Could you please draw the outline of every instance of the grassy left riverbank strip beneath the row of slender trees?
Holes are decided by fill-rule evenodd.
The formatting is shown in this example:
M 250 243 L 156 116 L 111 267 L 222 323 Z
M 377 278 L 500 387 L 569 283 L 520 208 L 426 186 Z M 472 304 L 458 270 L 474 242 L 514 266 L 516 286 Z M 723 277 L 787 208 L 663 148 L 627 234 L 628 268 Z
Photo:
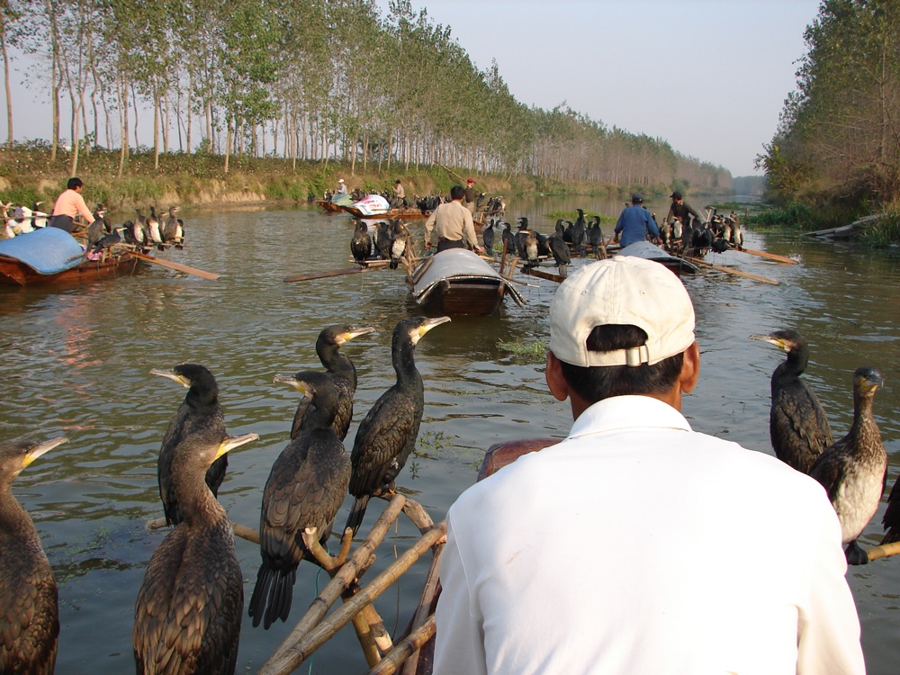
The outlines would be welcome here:
M 0 201 L 31 205 L 53 203 L 65 189 L 70 175 L 71 153 L 58 150 L 50 160 L 49 148 L 16 146 L 0 149 Z M 453 168 L 453 167 L 451 167 Z M 167 153 L 159 156 L 155 168 L 152 151 L 132 153 L 119 177 L 119 153 L 94 149 L 81 151 L 76 174 L 85 181 L 85 201 L 103 203 L 112 210 L 156 203 L 168 206 L 216 206 L 264 202 L 302 203 L 310 195 L 321 196 L 333 190 L 338 178 L 347 181 L 352 191 L 383 192 L 397 178 L 406 188 L 407 198 L 415 195 L 449 193 L 460 177 L 472 176 L 480 192 L 501 194 L 507 198 L 532 194 L 584 195 L 590 197 L 626 197 L 640 190 L 649 196 L 662 196 L 670 185 L 634 185 L 573 182 L 563 183 L 536 175 L 479 174 L 454 168 L 451 174 L 440 166 L 403 166 L 390 168 L 357 162 L 311 162 L 280 157 L 230 157 L 225 172 L 225 157 L 220 155 Z M 725 195 L 730 191 L 690 193 L 692 196 Z

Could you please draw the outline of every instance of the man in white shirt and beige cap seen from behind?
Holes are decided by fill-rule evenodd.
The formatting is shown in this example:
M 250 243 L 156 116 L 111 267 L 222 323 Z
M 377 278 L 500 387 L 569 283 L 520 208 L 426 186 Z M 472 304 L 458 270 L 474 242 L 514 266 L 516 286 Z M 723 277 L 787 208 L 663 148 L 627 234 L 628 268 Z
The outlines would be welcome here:
M 693 431 L 694 309 L 643 258 L 581 268 L 550 306 L 556 446 L 447 513 L 435 675 L 862 675 L 841 526 L 815 480 Z

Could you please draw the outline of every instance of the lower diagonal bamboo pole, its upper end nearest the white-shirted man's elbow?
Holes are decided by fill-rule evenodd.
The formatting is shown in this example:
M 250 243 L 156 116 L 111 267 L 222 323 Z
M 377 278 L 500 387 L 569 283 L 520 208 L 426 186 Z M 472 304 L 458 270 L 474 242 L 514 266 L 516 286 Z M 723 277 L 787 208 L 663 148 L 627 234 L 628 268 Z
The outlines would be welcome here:
M 419 560 L 419 556 L 428 551 L 431 546 L 437 544 L 446 537 L 446 521 L 442 521 L 418 542 L 401 555 L 390 567 L 374 578 L 365 589 L 347 602 L 342 608 L 322 621 L 307 635 L 296 643 L 287 646 L 284 650 L 272 656 L 259 671 L 259 675 L 288 675 L 300 664 L 306 661 L 312 653 L 329 641 L 338 630 L 347 626 L 360 609 L 378 598 L 387 590 L 403 572 L 410 569 L 412 563 Z M 349 564 L 349 563 L 348 563 Z M 343 568 L 342 568 L 343 569 Z M 339 574 L 340 572 L 338 572 Z M 330 585 L 330 584 L 329 584 Z M 318 600 L 318 598 L 316 599 Z M 292 634 L 293 635 L 293 634 Z M 285 641 L 287 642 L 287 641 Z

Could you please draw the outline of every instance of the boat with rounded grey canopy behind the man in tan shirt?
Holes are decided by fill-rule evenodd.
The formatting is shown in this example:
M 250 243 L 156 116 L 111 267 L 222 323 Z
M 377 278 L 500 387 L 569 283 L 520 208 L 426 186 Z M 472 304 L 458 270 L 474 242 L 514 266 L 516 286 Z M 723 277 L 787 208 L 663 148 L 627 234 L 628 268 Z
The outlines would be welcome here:
M 492 314 L 506 295 L 519 306 L 525 304 L 522 294 L 493 267 L 464 248 L 449 248 L 427 257 L 407 284 L 422 307 L 444 314 Z

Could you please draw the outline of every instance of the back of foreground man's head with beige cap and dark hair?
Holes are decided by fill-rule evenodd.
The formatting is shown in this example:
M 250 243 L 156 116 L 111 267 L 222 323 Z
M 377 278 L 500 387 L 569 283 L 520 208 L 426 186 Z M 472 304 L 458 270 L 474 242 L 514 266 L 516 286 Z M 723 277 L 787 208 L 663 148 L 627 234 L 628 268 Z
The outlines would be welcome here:
M 581 399 L 670 392 L 694 342 L 694 307 L 668 269 L 617 256 L 584 266 L 550 305 L 550 351 Z

